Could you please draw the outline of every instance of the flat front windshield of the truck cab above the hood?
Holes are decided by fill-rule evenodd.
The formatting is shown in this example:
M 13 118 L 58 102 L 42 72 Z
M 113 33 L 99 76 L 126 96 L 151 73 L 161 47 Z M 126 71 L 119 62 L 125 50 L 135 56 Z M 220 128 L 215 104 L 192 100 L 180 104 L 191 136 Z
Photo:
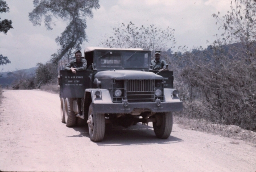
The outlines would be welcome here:
M 98 68 L 148 68 L 150 52 L 97 51 Z

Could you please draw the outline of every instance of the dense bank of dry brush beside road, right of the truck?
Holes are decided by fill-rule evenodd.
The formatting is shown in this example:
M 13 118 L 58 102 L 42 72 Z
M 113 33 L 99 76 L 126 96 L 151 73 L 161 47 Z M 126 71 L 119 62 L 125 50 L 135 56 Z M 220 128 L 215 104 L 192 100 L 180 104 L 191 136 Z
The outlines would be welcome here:
M 183 54 L 177 78 L 187 116 L 256 129 L 256 66 L 240 58 L 246 54 L 238 46 L 226 51 L 215 42 L 208 50 Z

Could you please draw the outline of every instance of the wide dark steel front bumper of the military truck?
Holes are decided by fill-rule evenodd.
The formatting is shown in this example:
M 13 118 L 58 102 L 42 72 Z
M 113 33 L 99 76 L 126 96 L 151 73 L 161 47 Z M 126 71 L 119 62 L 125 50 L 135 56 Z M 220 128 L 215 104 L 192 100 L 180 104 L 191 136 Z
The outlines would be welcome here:
M 145 108 L 152 112 L 175 112 L 183 110 L 182 102 L 161 102 L 160 106 L 156 103 L 129 103 L 127 107 L 123 103 L 92 103 L 94 113 L 100 114 L 128 114 L 135 108 Z

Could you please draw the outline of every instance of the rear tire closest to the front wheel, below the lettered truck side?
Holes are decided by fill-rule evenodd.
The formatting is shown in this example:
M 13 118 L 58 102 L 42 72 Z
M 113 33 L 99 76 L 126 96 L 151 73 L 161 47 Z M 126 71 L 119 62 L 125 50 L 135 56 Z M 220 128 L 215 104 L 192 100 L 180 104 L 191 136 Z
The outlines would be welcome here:
M 73 99 L 65 99 L 65 123 L 67 127 L 73 127 L 76 125 L 76 115 L 73 111 Z

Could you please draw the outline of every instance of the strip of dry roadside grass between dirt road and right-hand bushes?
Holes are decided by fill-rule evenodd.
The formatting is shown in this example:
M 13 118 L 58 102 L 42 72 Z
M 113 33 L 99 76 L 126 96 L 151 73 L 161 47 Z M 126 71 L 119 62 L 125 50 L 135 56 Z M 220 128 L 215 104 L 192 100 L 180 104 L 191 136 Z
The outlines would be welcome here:
M 230 137 L 232 139 L 244 140 L 256 144 L 256 132 L 242 129 L 237 125 L 213 124 L 208 120 L 188 119 L 175 115 L 174 123 L 178 124 L 180 128 L 212 133 L 214 135 Z M 231 143 L 239 144 L 239 142 Z

